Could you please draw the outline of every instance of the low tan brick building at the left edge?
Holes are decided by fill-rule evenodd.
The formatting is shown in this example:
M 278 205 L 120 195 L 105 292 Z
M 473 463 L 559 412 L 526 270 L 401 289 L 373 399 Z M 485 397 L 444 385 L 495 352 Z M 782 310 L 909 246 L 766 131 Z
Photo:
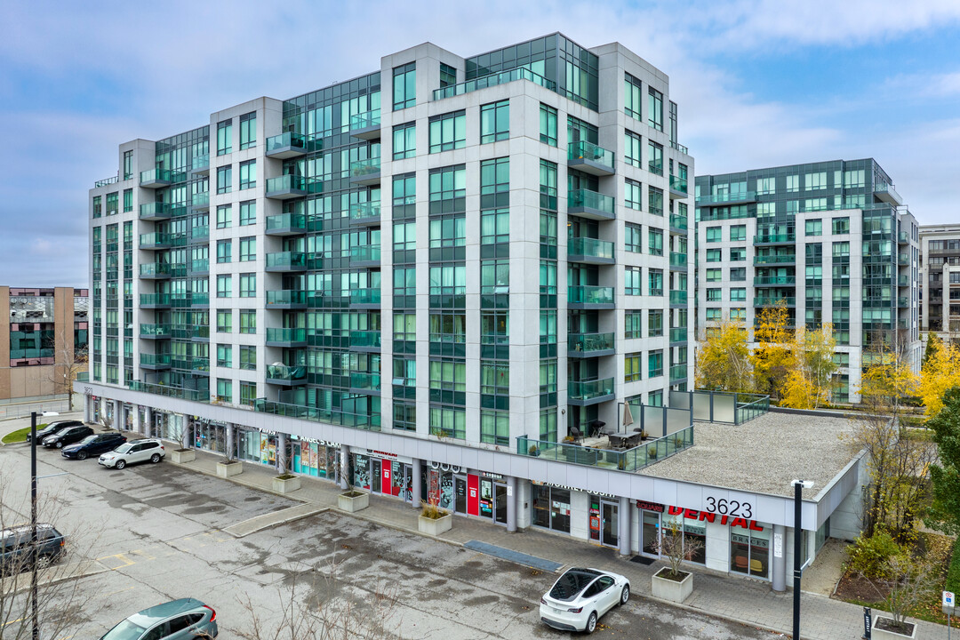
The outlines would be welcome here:
M 86 289 L 0 286 L 0 403 L 72 390 L 74 363 L 86 357 L 88 301 Z

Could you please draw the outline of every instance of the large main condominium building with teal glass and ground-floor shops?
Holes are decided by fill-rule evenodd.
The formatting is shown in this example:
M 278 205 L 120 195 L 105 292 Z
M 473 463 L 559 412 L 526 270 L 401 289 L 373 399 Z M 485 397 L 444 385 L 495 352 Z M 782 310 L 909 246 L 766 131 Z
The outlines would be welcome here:
M 655 495 L 636 472 L 693 445 L 694 404 L 714 415 L 687 389 L 677 136 L 665 74 L 554 34 L 469 58 L 422 44 L 124 143 L 90 191 L 86 413 L 656 556 L 660 518 L 706 532 L 708 497 L 678 479 Z M 102 331 L 121 317 L 122 364 Z M 730 421 L 766 406 L 716 403 Z M 786 534 L 782 485 L 746 516 L 765 525 L 710 516 L 711 539 Z M 811 504 L 804 528 L 837 504 Z M 731 549 L 698 561 L 739 571 Z

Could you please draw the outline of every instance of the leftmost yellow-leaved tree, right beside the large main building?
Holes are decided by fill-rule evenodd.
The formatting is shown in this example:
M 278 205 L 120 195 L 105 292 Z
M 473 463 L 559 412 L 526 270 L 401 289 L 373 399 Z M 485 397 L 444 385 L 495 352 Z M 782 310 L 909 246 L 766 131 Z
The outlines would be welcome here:
M 753 369 L 742 321 L 725 320 L 708 327 L 697 351 L 697 389 L 751 391 Z

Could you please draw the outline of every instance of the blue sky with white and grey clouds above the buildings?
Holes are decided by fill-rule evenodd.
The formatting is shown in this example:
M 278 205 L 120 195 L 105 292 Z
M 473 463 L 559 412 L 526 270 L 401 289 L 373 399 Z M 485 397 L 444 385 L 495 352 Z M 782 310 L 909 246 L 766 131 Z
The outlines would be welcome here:
M 670 79 L 697 175 L 875 157 L 922 225 L 960 223 L 960 0 L 0 3 L 0 284 L 87 286 L 87 191 L 117 146 L 259 96 L 556 31 Z

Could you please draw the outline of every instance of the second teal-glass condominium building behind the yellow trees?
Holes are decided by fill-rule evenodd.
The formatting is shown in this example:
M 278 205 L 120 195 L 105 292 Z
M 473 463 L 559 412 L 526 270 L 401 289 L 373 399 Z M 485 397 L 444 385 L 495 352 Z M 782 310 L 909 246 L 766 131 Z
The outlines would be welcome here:
M 914 367 L 920 231 L 873 158 L 696 178 L 699 338 L 785 301 L 793 326 L 833 325 L 834 402 L 858 402 L 874 341 Z

